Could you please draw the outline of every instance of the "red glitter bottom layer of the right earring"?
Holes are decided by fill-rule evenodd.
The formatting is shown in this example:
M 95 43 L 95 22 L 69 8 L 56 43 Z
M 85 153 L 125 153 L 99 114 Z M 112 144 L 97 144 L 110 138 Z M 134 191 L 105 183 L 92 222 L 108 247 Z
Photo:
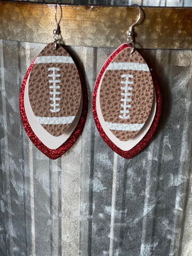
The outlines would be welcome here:
M 109 59 L 106 61 L 106 63 L 103 65 L 97 81 L 95 83 L 94 86 L 94 91 L 93 91 L 93 102 L 92 102 L 92 107 L 93 107 L 93 117 L 94 117 L 94 121 L 95 124 L 97 126 L 97 129 L 102 137 L 102 139 L 107 143 L 107 145 L 113 150 L 115 151 L 115 153 L 117 153 L 118 155 L 124 157 L 124 158 L 132 158 L 135 155 L 137 155 L 149 142 L 149 140 L 153 137 L 153 134 L 157 128 L 158 122 L 159 122 L 159 118 L 161 115 L 161 94 L 160 94 L 160 90 L 159 90 L 159 86 L 157 83 L 157 79 L 155 77 L 155 74 L 153 72 L 153 70 L 150 69 L 150 73 L 151 73 L 151 77 L 153 79 L 154 82 L 154 87 L 155 87 L 155 92 L 156 92 L 156 112 L 155 112 L 155 117 L 153 120 L 153 123 L 151 124 L 148 132 L 146 133 L 146 135 L 139 141 L 139 143 L 137 143 L 137 145 L 135 145 L 132 149 L 124 151 L 121 148 L 117 147 L 115 145 L 115 143 L 113 143 L 108 136 L 106 135 L 105 131 L 102 129 L 102 126 L 99 122 L 99 118 L 98 118 L 98 114 L 97 114 L 97 109 L 96 109 L 96 98 L 97 98 L 97 92 L 98 92 L 98 87 L 99 87 L 99 83 L 101 81 L 101 78 L 103 76 L 103 74 L 105 73 L 105 70 L 107 69 L 107 67 L 109 66 L 109 63 L 111 61 L 113 61 L 113 59 L 117 56 L 117 54 L 119 52 L 121 52 L 122 50 L 124 50 L 126 47 L 131 47 L 129 44 L 122 44 L 120 47 L 118 47 L 118 49 L 112 53 L 109 57 Z

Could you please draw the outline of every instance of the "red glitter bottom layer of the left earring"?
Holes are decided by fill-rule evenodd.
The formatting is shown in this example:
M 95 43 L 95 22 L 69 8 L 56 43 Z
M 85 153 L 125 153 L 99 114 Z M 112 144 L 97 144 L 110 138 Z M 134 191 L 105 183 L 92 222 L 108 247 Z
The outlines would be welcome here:
M 30 140 L 34 143 L 34 145 L 42 151 L 43 154 L 45 154 L 47 157 L 51 159 L 57 159 L 58 157 L 62 156 L 66 151 L 73 146 L 75 141 L 77 140 L 79 134 L 83 130 L 83 126 L 85 124 L 86 120 L 86 115 L 87 115 L 87 106 L 88 106 L 88 100 L 87 100 L 87 91 L 86 91 L 86 86 L 84 83 L 83 76 L 81 72 L 78 70 L 79 77 L 81 79 L 81 86 L 82 86 L 82 93 L 83 93 L 83 107 L 82 107 L 82 114 L 79 119 L 79 122 L 77 126 L 75 127 L 75 130 L 73 133 L 70 135 L 70 137 L 57 149 L 50 149 L 46 147 L 41 140 L 39 140 L 34 133 L 34 131 L 31 129 L 31 126 L 28 122 L 27 116 L 26 116 L 26 111 L 25 111 L 25 106 L 24 106 L 24 93 L 25 93 L 25 87 L 26 87 L 26 82 L 27 78 L 30 74 L 31 69 L 33 68 L 35 60 L 31 63 L 30 67 L 27 70 L 27 73 L 23 79 L 22 86 L 21 86 L 21 92 L 20 92 L 20 99 L 19 99 L 19 107 L 20 107 L 20 114 L 21 114 L 21 120 L 23 123 L 23 126 L 27 132 L 27 135 L 29 136 Z

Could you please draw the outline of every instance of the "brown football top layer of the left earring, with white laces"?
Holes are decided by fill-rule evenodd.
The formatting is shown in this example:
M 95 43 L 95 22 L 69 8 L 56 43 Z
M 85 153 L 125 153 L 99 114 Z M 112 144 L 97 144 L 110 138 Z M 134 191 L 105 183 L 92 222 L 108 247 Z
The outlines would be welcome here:
M 31 108 L 44 129 L 54 137 L 73 123 L 82 97 L 77 67 L 62 46 L 48 44 L 37 56 L 29 77 Z

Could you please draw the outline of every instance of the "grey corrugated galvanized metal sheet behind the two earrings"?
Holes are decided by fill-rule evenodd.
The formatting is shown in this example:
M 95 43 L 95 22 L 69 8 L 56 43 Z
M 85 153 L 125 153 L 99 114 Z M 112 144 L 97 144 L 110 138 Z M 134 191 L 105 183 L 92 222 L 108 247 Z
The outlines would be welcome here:
M 0 255 L 191 256 L 191 50 L 140 51 L 161 87 L 162 116 L 148 146 L 127 160 L 103 142 L 91 109 L 95 79 L 115 49 L 70 46 L 85 77 L 89 113 L 75 145 L 52 161 L 30 142 L 19 113 L 22 79 L 44 46 L 0 41 Z

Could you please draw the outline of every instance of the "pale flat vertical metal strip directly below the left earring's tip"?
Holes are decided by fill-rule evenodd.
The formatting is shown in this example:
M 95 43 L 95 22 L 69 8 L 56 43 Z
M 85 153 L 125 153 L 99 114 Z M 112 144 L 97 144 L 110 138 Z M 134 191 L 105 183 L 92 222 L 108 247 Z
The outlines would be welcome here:
M 79 250 L 79 159 L 81 140 L 61 157 L 62 256 Z

